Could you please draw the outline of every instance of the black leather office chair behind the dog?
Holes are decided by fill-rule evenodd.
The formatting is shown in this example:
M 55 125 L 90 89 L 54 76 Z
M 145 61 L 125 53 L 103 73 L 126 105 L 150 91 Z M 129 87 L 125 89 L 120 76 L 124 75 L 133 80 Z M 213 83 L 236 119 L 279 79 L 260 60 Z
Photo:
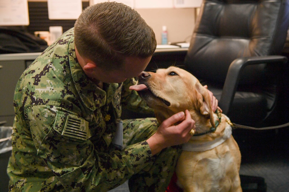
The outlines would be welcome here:
M 267 126 L 288 24 L 288 0 L 203 1 L 184 64 L 234 123 Z

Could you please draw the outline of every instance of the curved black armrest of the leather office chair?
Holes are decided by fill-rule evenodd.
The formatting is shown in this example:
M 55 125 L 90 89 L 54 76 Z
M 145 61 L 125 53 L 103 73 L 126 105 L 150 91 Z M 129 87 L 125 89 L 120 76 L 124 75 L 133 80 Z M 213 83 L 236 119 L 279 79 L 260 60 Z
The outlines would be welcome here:
M 279 55 L 242 57 L 231 62 L 219 102 L 219 107 L 223 110 L 223 113 L 227 114 L 229 112 L 240 80 L 240 73 L 244 67 L 253 64 L 285 64 L 286 62 L 287 57 Z

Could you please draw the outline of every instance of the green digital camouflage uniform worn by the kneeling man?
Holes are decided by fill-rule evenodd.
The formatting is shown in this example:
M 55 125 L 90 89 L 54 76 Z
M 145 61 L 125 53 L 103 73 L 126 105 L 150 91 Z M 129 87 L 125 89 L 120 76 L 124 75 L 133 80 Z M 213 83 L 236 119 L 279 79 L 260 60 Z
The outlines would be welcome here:
M 131 191 L 165 191 L 179 147 L 152 156 L 146 139 L 155 118 L 123 120 L 124 149 L 112 144 L 121 106 L 151 111 L 136 83 L 87 79 L 75 56 L 73 29 L 49 46 L 19 79 L 14 96 L 10 191 L 108 191 L 131 178 Z

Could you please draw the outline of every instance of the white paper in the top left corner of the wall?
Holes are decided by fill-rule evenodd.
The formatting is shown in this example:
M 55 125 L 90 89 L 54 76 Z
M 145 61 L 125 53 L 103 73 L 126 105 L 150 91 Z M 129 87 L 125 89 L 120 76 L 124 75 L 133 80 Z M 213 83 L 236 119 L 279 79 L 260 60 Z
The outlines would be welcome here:
M 27 0 L 0 0 L 1 25 L 29 25 Z

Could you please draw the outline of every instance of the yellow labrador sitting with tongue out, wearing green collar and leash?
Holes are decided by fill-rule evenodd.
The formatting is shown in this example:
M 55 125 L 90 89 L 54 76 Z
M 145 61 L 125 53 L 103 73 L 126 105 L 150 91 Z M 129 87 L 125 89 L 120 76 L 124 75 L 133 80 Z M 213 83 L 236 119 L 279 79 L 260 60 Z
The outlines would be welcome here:
M 159 123 L 186 109 L 196 122 L 196 133 L 183 145 L 177 162 L 179 187 L 198 192 L 242 191 L 241 154 L 229 118 L 212 111 L 210 95 L 196 77 L 173 66 L 142 72 L 134 90 L 154 109 Z

